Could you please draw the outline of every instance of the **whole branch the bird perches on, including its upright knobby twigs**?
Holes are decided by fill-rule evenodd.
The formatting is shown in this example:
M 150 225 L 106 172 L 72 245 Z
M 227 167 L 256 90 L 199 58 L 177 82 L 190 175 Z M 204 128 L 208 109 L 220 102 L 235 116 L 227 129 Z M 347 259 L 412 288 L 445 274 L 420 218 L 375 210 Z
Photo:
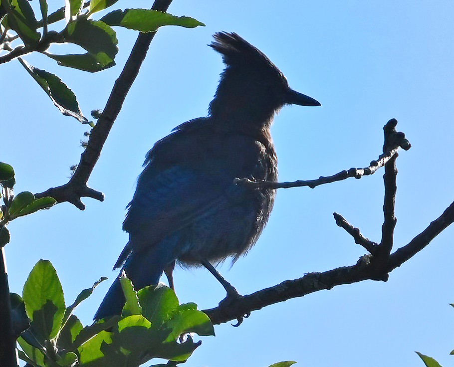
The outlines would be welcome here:
M 334 213 L 336 224 L 344 228 L 354 239 L 355 242 L 366 248 L 371 255 L 362 256 L 353 266 L 337 268 L 323 273 L 309 273 L 302 278 L 295 280 L 286 280 L 274 287 L 257 291 L 247 296 L 236 299 L 227 299 L 221 301 L 218 307 L 204 310 L 214 324 L 222 324 L 231 320 L 241 320 L 244 315 L 259 310 L 263 307 L 286 301 L 290 298 L 303 297 L 307 294 L 317 292 L 323 289 L 331 289 L 341 284 L 357 283 L 366 279 L 387 281 L 389 273 L 405 261 L 413 257 L 417 252 L 426 247 L 438 234 L 454 222 L 454 202 L 445 210 L 445 212 L 435 221 L 433 221 L 423 232 L 413 238 L 407 245 L 399 248 L 390 255 L 393 246 L 394 227 L 396 218 L 394 216 L 394 204 L 396 198 L 396 158 L 397 148 L 405 150 L 410 149 L 411 145 L 403 133 L 396 131 L 397 121 L 392 119 L 384 127 L 385 144 L 383 155 L 380 156 L 379 162 L 371 163 L 369 169 L 375 169 L 385 166 L 384 184 L 384 223 L 382 226 L 382 241 L 380 245 L 364 237 L 358 228 L 354 228 L 340 214 Z M 353 170 L 349 170 L 352 171 Z M 374 172 L 375 172 L 374 171 Z M 344 171 L 346 172 L 346 171 Z M 373 172 L 372 172 L 373 173 Z M 340 173 L 342 174 L 342 173 Z M 337 175 L 340 175 L 337 174 Z M 371 173 L 368 173 L 371 174 Z M 344 175 L 345 176 L 345 175 Z M 364 176 L 364 175 L 362 175 Z M 330 178 L 320 178 L 312 182 L 299 182 L 310 184 L 315 187 L 317 184 L 339 181 Z M 354 177 L 354 176 L 349 176 Z M 298 182 L 297 182 L 298 183 Z M 249 184 L 249 183 L 246 183 Z M 273 184 L 273 183 L 271 183 Z M 277 184 L 277 186 L 268 186 L 268 183 L 251 183 L 253 187 L 294 187 L 294 183 Z

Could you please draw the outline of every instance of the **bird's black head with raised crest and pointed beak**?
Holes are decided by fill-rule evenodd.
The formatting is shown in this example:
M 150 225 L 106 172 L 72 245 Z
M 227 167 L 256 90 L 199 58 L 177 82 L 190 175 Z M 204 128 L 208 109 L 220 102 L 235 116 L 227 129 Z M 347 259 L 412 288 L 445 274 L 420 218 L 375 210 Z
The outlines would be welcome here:
M 285 104 L 320 106 L 288 86 L 284 74 L 257 48 L 236 33 L 218 32 L 210 47 L 223 55 L 226 68 L 210 114 L 242 123 L 267 124 Z

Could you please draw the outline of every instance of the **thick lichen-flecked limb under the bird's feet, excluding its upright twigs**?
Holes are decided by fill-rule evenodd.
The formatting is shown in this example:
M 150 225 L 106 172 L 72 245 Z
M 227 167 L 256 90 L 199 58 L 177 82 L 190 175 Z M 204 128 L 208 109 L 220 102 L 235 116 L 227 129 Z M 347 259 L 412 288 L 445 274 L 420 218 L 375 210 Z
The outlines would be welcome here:
M 236 320 L 252 311 L 286 301 L 290 298 L 303 297 L 323 289 L 331 289 L 341 284 L 357 283 L 366 279 L 388 279 L 388 273 L 402 265 L 417 252 L 426 247 L 438 234 L 454 222 L 454 202 L 445 212 L 433 221 L 422 233 L 413 238 L 409 244 L 391 254 L 386 269 L 377 267 L 371 255 L 360 258 L 356 265 L 337 268 L 323 273 L 309 273 L 300 279 L 286 280 L 274 287 L 221 303 L 204 312 L 214 324 Z

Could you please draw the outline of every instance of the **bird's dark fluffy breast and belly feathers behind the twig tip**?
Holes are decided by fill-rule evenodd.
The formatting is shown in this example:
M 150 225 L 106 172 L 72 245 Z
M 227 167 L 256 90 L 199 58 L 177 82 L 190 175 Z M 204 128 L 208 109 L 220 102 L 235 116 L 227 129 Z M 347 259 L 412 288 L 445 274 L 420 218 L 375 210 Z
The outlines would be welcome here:
M 272 146 L 271 152 L 259 142 L 254 146 L 254 154 L 237 151 L 233 157 L 228 157 L 231 184 L 216 205 L 181 231 L 178 259 L 182 263 L 200 264 L 203 259 L 216 263 L 227 257 L 233 257 L 235 261 L 257 241 L 271 213 L 275 190 L 255 190 L 233 184 L 232 180 L 277 180 L 277 162 Z M 222 166 L 226 168 L 226 164 Z

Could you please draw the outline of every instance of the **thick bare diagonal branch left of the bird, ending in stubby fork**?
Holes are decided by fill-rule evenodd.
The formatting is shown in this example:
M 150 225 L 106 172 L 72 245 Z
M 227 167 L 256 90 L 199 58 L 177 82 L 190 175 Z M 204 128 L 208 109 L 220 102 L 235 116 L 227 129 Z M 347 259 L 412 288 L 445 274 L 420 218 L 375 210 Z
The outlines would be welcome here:
M 172 0 L 155 0 L 152 9 L 166 11 L 171 2 Z M 126 95 L 139 73 L 140 66 L 145 59 L 148 47 L 155 34 L 156 32 L 140 33 L 137 37 L 125 67 L 115 81 L 106 107 L 99 117 L 96 126 L 91 131 L 87 147 L 81 154 L 79 165 L 69 182 L 38 193 L 35 195 L 36 197 L 52 196 L 58 202 L 68 201 L 80 210 L 85 208 L 85 205 L 80 200 L 81 197 L 92 197 L 100 201 L 104 199 L 104 195 L 101 192 L 95 191 L 87 186 L 88 178 L 101 155 L 102 147 L 109 135 L 110 129 L 112 129 L 112 125 L 120 113 Z

